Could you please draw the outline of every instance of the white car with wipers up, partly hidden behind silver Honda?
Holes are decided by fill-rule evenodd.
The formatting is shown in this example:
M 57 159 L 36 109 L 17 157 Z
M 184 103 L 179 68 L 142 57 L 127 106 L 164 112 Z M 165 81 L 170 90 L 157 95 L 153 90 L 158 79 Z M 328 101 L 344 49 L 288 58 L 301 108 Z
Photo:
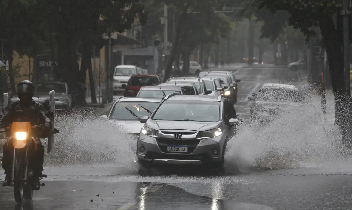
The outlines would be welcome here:
M 108 115 L 103 115 L 100 118 L 116 122 L 123 129 L 123 132 L 137 138 L 144 125 L 139 122 L 139 119 L 142 116 L 149 116 L 160 101 L 161 98 L 121 97 L 111 106 Z

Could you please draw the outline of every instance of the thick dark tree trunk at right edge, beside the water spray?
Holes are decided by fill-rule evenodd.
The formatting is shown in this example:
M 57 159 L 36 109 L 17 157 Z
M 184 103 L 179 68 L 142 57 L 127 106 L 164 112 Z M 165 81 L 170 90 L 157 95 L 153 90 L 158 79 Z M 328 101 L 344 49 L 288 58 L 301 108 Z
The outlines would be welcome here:
M 335 124 L 339 126 L 344 122 L 345 99 L 345 81 L 344 81 L 344 62 L 341 41 L 332 17 L 326 17 L 319 22 L 321 35 L 324 39 L 324 45 L 328 58 L 329 70 L 332 80 L 332 87 L 335 96 Z

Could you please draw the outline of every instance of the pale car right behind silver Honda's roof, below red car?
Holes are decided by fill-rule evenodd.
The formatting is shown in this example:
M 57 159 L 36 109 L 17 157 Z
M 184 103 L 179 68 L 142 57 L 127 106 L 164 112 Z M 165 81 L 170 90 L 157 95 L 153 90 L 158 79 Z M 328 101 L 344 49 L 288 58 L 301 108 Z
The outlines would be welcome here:
M 170 93 L 183 94 L 181 87 L 175 86 L 145 86 L 140 88 L 137 97 L 164 98 Z

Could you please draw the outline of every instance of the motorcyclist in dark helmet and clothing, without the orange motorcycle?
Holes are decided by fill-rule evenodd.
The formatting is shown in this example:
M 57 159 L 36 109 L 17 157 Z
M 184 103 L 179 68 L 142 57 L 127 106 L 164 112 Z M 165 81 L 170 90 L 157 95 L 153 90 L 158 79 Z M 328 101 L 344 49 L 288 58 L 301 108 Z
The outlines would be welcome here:
M 19 110 L 21 110 L 21 117 L 24 117 L 26 122 L 31 122 L 32 125 L 44 124 L 45 127 L 51 128 L 52 124 L 50 119 L 45 116 L 45 109 L 42 104 L 33 100 L 34 86 L 31 81 L 21 81 L 16 88 L 17 96 L 19 101 L 13 101 L 0 112 L 0 127 L 4 128 L 6 124 L 11 124 L 17 121 L 20 116 Z M 33 148 L 29 148 L 31 152 L 29 158 L 30 169 L 33 170 L 34 184 L 33 190 L 40 189 L 39 178 L 42 177 L 43 162 L 44 162 L 44 146 L 41 144 L 40 139 L 36 138 L 37 151 L 35 152 L 34 144 Z M 3 146 L 3 159 L 2 168 L 5 170 L 6 178 L 2 186 L 9 186 L 11 183 L 11 170 L 12 170 L 12 157 L 13 157 L 13 145 L 6 143 Z

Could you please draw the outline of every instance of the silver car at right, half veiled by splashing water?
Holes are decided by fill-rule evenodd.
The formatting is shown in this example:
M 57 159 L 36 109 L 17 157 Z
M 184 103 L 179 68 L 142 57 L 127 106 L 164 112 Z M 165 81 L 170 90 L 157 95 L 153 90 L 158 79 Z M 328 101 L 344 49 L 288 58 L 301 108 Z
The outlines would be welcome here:
M 306 102 L 301 91 L 294 85 L 275 83 L 263 84 L 248 100 L 251 122 L 254 120 L 267 122 L 276 119 Z

